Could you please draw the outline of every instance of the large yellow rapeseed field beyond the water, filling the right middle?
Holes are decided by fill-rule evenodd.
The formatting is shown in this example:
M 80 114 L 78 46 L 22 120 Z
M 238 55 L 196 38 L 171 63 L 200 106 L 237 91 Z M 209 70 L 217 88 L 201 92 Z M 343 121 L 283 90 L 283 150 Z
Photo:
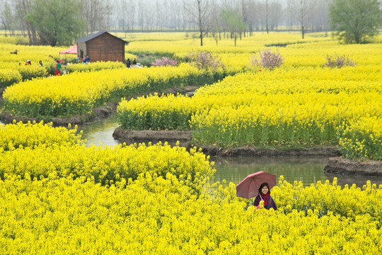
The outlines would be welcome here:
M 272 71 L 250 67 L 249 59 L 238 57 L 244 55 L 239 53 L 232 62 L 241 60 L 238 69 L 250 72 L 204 86 L 192 98 L 150 96 L 122 101 L 120 125 L 192 129 L 199 145 L 340 144 L 349 158 L 380 160 L 381 47 L 332 41 L 292 44 L 279 48 L 285 64 Z M 326 56 L 339 52 L 357 66 L 323 67 Z M 355 131 L 356 122 L 361 132 Z

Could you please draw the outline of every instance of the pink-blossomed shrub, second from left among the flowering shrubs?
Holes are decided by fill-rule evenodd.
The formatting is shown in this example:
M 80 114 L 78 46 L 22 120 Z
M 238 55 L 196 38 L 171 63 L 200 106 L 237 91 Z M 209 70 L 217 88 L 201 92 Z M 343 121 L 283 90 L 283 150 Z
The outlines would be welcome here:
M 224 69 L 219 57 L 215 57 L 211 52 L 190 52 L 185 58 L 199 70 L 216 71 L 219 68 Z

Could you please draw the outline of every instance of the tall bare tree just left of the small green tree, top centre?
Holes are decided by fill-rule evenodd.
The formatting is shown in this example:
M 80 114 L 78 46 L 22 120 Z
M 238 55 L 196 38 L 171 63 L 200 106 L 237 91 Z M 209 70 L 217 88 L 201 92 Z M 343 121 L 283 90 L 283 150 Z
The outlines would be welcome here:
M 209 0 L 185 0 L 184 8 L 190 14 L 191 23 L 196 24 L 199 30 L 200 46 L 203 46 L 203 38 L 209 32 Z

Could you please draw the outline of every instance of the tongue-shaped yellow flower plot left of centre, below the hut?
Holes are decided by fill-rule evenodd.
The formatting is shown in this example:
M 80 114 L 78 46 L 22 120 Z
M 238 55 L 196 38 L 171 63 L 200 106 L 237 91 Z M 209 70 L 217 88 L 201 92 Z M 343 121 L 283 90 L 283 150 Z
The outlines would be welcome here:
M 71 116 L 87 113 L 112 101 L 120 101 L 122 96 L 162 91 L 171 86 L 201 84 L 208 80 L 212 82 L 214 79 L 211 74 L 188 64 L 180 67 L 74 72 L 8 87 L 4 91 L 4 106 L 6 111 L 16 115 Z

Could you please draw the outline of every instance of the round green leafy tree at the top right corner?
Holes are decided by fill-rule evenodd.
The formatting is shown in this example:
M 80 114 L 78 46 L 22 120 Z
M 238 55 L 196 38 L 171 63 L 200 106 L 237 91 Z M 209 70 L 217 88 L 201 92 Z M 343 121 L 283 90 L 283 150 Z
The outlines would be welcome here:
M 330 23 L 340 42 L 365 43 L 378 35 L 382 10 L 378 0 L 334 0 Z

